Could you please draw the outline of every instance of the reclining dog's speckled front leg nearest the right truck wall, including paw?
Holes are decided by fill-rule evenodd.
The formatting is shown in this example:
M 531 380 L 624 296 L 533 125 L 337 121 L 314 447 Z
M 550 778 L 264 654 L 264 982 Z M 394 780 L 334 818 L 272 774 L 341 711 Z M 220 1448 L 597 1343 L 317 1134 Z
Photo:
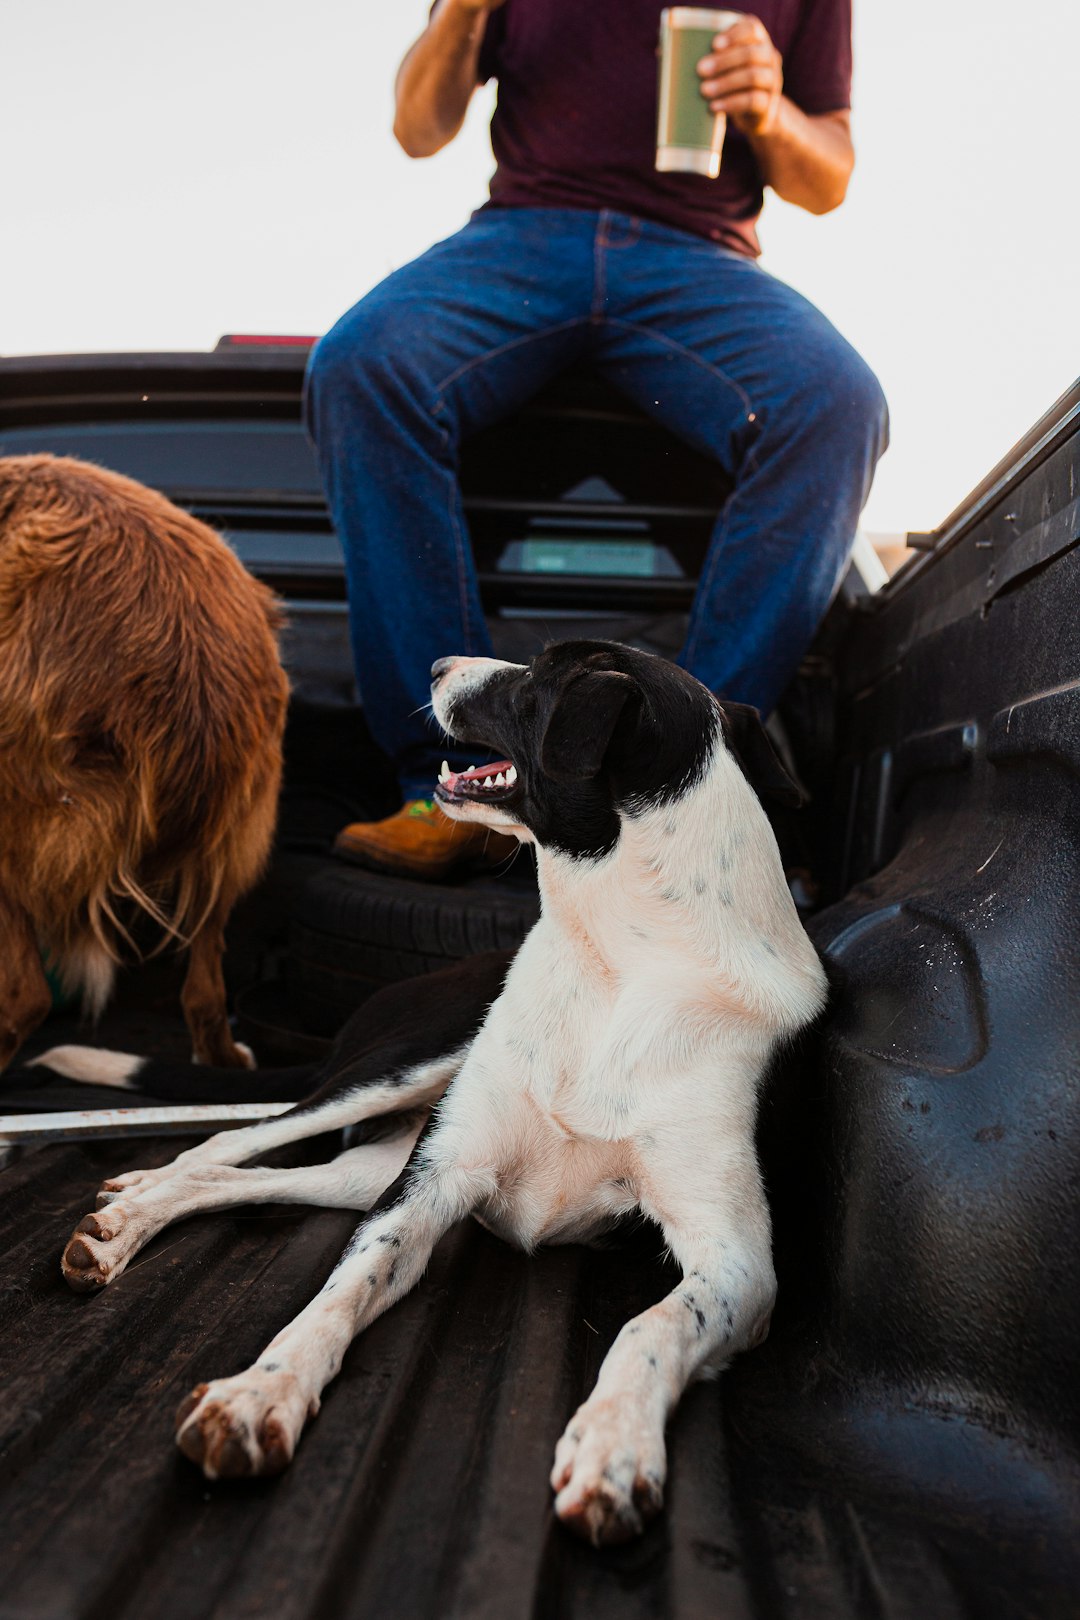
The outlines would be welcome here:
M 643 1207 L 659 1217 L 646 1200 Z M 555 1447 L 555 1513 L 597 1547 L 628 1541 L 659 1513 L 670 1413 L 695 1374 L 764 1338 L 776 1294 L 759 1189 L 756 1209 L 659 1218 L 683 1280 L 627 1322 Z

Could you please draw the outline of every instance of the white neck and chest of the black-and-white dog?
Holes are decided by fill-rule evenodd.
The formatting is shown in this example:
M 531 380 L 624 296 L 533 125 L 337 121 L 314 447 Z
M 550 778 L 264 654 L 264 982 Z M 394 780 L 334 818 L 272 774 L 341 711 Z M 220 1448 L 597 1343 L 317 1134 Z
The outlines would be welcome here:
M 481 1042 L 567 1134 L 622 1140 L 755 1079 L 821 1004 L 776 841 L 722 752 L 677 805 L 623 818 L 596 860 L 539 850 L 542 919 Z M 724 1098 L 716 1100 L 724 1111 Z

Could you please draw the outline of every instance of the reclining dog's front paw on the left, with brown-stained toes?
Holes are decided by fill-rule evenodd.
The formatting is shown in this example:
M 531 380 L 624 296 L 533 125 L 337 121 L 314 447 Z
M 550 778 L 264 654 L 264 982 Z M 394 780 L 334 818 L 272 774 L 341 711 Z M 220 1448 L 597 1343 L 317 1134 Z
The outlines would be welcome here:
M 176 1445 L 207 1479 L 280 1474 L 317 1409 L 291 1372 L 248 1367 L 194 1387 L 176 1413 Z

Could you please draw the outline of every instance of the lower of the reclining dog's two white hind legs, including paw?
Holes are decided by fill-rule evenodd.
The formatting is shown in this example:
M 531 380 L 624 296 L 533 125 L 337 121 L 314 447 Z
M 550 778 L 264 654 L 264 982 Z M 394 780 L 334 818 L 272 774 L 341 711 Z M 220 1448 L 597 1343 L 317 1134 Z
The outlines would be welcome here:
M 236 1204 L 314 1204 L 322 1209 L 368 1210 L 405 1166 L 419 1123 L 389 1142 L 340 1153 L 329 1165 L 303 1170 L 235 1170 L 193 1165 L 165 1181 L 107 1194 L 86 1215 L 60 1260 L 70 1288 L 94 1293 L 112 1283 L 164 1226 L 186 1215 L 233 1209 Z

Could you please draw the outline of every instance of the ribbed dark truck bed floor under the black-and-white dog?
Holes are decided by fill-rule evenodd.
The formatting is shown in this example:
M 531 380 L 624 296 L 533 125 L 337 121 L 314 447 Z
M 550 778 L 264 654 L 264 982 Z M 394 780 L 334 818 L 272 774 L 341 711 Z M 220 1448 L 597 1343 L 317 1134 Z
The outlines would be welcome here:
M 157 1050 L 183 1048 L 172 1019 L 155 1035 Z M 71 1038 L 63 1024 L 36 1045 L 58 1038 Z M 130 1047 L 133 1027 L 115 1016 L 102 1038 Z M 96 1186 L 183 1145 L 55 1145 L 0 1171 L 5 1620 L 1059 1612 L 1040 1571 L 994 1557 L 978 1528 L 947 1531 L 918 1505 L 886 1513 L 753 1455 L 724 1380 L 680 1406 L 667 1510 L 644 1537 L 606 1552 L 568 1537 L 551 1511 L 552 1448 L 622 1322 L 670 1286 L 648 1233 L 526 1259 L 461 1225 L 353 1345 L 290 1471 L 209 1484 L 172 1443 L 176 1405 L 254 1359 L 356 1217 L 201 1217 L 162 1233 L 105 1293 L 70 1293 L 60 1251 Z

